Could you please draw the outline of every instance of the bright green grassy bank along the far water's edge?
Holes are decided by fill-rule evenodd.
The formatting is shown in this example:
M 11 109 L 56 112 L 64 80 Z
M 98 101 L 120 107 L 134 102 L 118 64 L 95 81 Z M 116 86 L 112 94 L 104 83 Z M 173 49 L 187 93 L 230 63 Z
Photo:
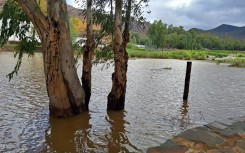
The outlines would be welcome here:
M 127 49 L 131 58 L 159 58 L 183 60 L 212 60 L 217 63 L 231 63 L 231 66 L 245 67 L 245 51 L 223 50 L 143 50 Z M 232 57 L 232 58 L 231 58 Z

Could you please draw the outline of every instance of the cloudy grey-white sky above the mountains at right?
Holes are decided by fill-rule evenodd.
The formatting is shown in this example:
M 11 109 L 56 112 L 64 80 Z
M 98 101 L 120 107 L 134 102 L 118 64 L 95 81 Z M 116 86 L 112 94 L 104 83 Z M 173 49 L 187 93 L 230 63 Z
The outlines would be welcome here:
M 67 2 L 75 5 L 74 0 Z M 245 26 L 245 0 L 150 0 L 148 10 L 151 13 L 145 17 L 149 21 L 161 19 L 187 30 L 208 30 L 221 24 Z

